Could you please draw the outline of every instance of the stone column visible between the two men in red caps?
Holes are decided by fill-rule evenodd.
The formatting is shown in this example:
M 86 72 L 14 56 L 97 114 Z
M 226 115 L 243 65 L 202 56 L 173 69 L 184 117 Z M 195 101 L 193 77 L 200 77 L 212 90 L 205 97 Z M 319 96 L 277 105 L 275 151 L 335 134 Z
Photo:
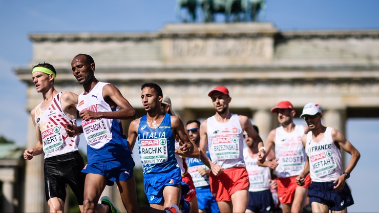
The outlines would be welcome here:
M 254 124 L 259 128 L 259 136 L 261 136 L 263 142 L 266 141 L 268 133 L 272 129 L 272 115 L 269 109 L 259 109 L 252 115 Z

